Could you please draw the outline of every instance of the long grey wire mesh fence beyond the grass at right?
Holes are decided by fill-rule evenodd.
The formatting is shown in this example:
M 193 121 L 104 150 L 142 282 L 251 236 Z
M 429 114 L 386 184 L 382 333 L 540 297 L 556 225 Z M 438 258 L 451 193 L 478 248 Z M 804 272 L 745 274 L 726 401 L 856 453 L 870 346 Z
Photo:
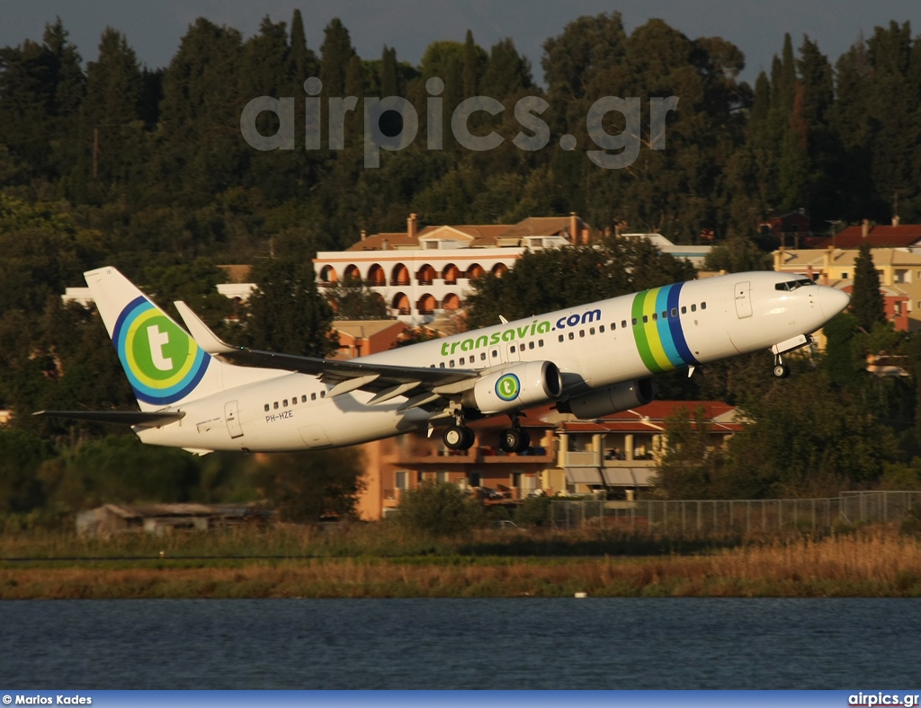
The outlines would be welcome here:
M 842 492 L 821 499 L 605 501 L 554 499 L 554 529 L 621 529 L 670 536 L 826 531 L 840 524 L 902 520 L 921 511 L 921 492 Z

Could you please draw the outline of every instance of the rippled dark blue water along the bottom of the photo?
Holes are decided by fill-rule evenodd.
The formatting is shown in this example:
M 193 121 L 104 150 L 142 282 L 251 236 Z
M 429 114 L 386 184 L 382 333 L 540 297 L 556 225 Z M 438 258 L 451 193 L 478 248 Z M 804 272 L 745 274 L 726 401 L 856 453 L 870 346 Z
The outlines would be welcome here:
M 19 689 L 915 686 L 921 600 L 0 602 Z

